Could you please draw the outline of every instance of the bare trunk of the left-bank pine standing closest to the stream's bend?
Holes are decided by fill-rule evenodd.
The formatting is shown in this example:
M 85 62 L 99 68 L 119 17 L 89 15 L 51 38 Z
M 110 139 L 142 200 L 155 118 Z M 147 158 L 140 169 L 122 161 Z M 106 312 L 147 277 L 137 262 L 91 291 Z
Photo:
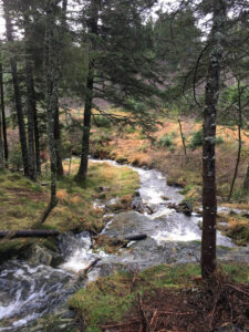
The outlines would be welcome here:
M 95 49 L 95 37 L 97 35 L 97 17 L 98 17 L 98 0 L 91 1 L 91 18 L 89 20 L 90 33 L 92 34 L 91 51 Z M 93 104 L 93 87 L 94 87 L 94 55 L 90 54 L 89 74 L 86 81 L 86 97 L 84 108 L 83 135 L 82 135 L 82 153 L 81 164 L 76 178 L 82 181 L 85 180 L 89 167 L 89 152 L 90 152 L 90 131 L 91 131 L 91 116 Z

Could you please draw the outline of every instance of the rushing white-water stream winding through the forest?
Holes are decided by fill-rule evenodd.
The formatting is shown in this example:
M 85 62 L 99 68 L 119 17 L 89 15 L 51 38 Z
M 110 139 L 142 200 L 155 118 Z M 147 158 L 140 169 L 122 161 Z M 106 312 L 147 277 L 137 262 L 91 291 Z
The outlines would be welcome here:
M 113 160 L 105 162 L 116 167 Z M 126 237 L 146 234 L 147 239 L 128 243 L 128 250 L 120 249 L 117 255 L 107 255 L 92 249 L 89 232 L 66 234 L 59 238 L 64 258 L 56 268 L 39 264 L 31 266 L 24 260 L 12 259 L 0 269 L 0 331 L 44 331 L 32 330 L 32 322 L 46 313 L 56 311 L 70 294 L 84 286 L 79 283 L 76 273 L 96 258 L 101 260 L 89 273 L 89 280 L 107 276 L 117 269 L 136 271 L 158 263 L 181 263 L 197 261 L 200 255 L 201 217 L 190 217 L 167 207 L 168 203 L 178 204 L 183 196 L 179 189 L 166 184 L 166 176 L 155 169 L 131 167 L 139 174 L 141 188 L 134 198 L 134 206 L 142 206 L 139 212 L 131 211 L 112 215 L 102 234 L 110 237 Z M 166 200 L 167 199 L 167 200 Z M 115 199 L 113 199 L 115 203 Z M 105 205 L 95 201 L 96 208 Z M 231 240 L 217 231 L 217 256 L 220 260 L 249 261 L 249 248 L 238 248 Z M 69 318 L 65 311 L 65 320 Z M 63 329 L 61 330 L 63 331 Z

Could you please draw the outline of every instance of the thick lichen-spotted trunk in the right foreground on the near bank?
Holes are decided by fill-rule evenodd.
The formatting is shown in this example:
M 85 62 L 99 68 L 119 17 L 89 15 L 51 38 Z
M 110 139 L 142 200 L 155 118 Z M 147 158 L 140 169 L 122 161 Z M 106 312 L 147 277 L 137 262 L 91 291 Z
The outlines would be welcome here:
M 209 66 L 204 107 L 203 145 L 203 240 L 201 274 L 209 278 L 216 269 L 216 113 L 220 90 L 220 62 L 222 59 L 224 24 L 226 21 L 226 1 L 212 1 L 212 28 Z

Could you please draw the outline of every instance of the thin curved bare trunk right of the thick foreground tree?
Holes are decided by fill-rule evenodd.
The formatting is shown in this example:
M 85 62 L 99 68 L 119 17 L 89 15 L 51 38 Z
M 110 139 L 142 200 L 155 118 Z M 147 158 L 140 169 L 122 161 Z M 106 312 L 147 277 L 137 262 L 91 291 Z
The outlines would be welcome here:
M 237 154 L 237 160 L 236 160 L 236 168 L 235 174 L 231 181 L 230 191 L 228 195 L 228 201 L 231 199 L 231 195 L 235 187 L 235 181 L 238 174 L 239 163 L 240 163 L 240 155 L 241 155 L 241 147 L 242 147 L 242 139 L 241 139 L 241 127 L 242 127 L 242 110 L 241 110 L 241 91 L 240 91 L 240 80 L 237 79 L 237 85 L 238 85 L 238 154 Z

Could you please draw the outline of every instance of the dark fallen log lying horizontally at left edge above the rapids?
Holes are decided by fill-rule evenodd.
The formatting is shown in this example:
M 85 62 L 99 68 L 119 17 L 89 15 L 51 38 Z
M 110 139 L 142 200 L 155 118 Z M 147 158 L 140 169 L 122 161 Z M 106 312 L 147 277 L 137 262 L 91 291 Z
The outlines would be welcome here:
M 0 238 L 48 238 L 58 237 L 58 230 L 0 230 Z

